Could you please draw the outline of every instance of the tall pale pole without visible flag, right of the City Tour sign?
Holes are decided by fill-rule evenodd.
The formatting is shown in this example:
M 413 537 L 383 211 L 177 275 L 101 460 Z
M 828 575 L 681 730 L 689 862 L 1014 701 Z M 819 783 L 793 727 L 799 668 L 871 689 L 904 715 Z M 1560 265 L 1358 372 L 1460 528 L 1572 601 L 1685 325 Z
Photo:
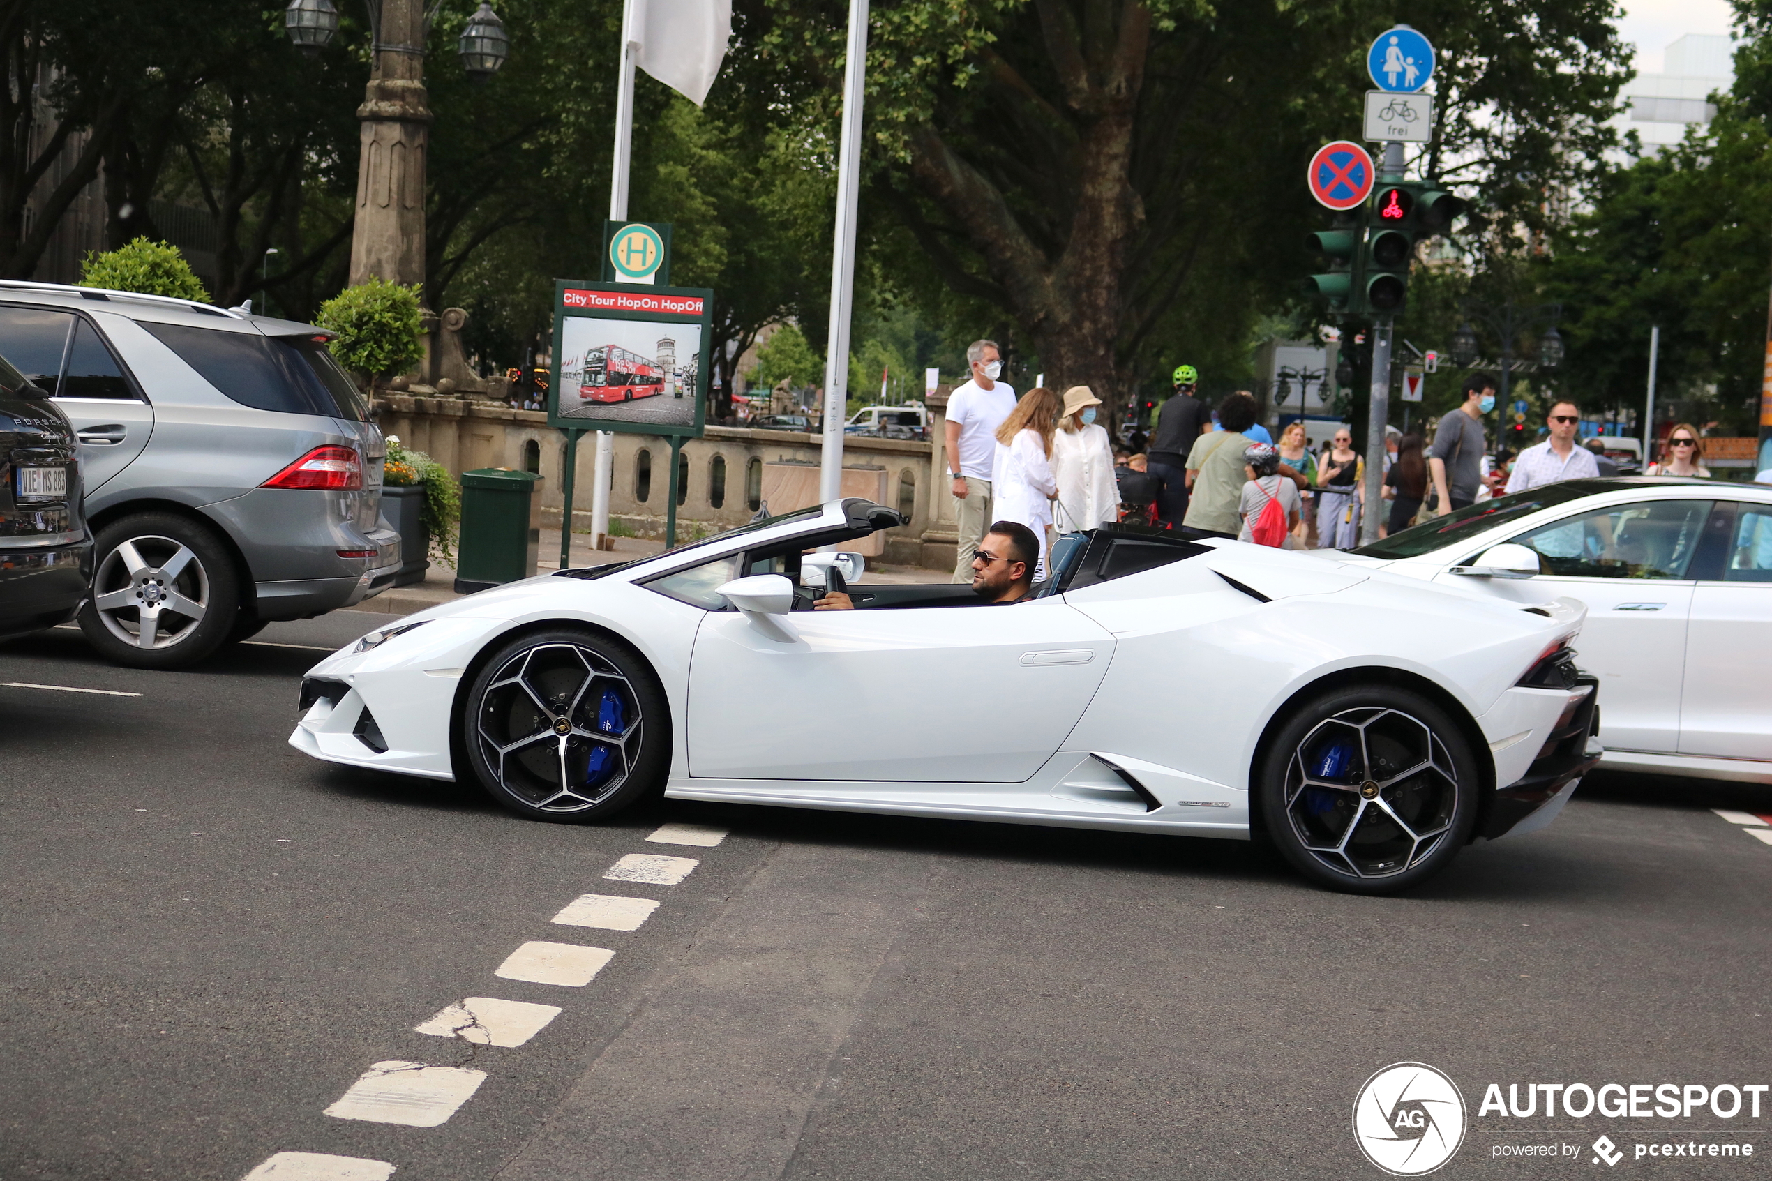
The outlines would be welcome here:
M 861 177 L 861 92 L 868 66 L 868 0 L 849 0 L 843 55 L 843 129 L 836 163 L 836 241 L 831 248 L 831 331 L 824 359 L 824 446 L 819 499 L 843 489 L 843 409 L 849 405 L 849 312 L 856 280 L 856 184 Z

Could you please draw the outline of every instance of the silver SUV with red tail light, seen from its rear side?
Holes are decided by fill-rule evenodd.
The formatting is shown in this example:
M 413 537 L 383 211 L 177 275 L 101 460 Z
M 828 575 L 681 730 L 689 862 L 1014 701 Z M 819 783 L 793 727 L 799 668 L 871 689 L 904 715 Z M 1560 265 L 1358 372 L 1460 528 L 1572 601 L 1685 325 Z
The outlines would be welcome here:
M 80 441 L 96 549 L 87 639 L 183 668 L 273 620 L 393 583 L 381 432 L 308 324 L 0 280 L 0 356 Z

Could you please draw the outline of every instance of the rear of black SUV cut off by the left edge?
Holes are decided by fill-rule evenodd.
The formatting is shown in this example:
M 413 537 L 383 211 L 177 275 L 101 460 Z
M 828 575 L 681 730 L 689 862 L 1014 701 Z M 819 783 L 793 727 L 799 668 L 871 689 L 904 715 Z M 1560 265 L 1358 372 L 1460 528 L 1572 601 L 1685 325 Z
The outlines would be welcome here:
M 74 428 L 0 358 L 0 639 L 74 618 L 90 584 Z

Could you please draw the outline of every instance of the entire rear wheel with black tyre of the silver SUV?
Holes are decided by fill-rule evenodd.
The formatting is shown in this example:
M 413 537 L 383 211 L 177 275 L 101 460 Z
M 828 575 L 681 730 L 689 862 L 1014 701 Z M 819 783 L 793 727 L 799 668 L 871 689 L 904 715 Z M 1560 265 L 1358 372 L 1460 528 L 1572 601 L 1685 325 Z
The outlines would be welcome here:
M 172 513 L 99 529 L 80 630 L 108 660 L 175 669 L 202 660 L 239 616 L 239 574 L 222 540 Z

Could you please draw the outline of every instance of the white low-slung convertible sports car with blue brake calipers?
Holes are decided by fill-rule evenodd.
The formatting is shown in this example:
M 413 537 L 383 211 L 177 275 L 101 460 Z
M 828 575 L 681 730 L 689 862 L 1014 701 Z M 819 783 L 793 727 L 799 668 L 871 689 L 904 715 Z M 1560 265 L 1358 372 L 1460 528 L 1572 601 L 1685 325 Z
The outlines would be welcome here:
M 1379 894 L 1547 823 L 1598 760 L 1584 609 L 1221 538 L 1097 529 L 1035 598 L 847 586 L 904 519 L 831 501 L 370 632 L 291 744 L 537 820 L 668 797 L 1247 838 Z M 833 568 L 836 572 L 833 572 Z

